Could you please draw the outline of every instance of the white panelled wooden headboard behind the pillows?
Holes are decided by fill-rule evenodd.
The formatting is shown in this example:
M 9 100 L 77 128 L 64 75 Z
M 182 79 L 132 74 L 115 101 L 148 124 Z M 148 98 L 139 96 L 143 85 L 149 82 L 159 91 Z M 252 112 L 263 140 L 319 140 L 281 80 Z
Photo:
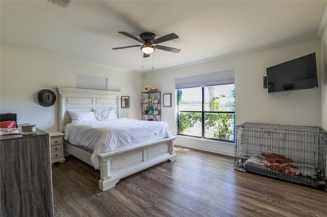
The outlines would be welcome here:
M 100 110 L 115 110 L 117 117 L 121 115 L 121 97 L 122 92 L 89 90 L 78 88 L 58 87 L 58 118 L 60 132 L 63 132 L 63 126 L 71 122 L 71 117 L 67 111 L 93 111 L 96 108 Z

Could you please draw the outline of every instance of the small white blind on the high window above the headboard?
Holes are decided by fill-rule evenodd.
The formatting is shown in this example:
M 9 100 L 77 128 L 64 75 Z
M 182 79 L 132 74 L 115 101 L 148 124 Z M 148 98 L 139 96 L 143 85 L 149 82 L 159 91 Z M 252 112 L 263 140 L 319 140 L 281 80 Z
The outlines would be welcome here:
M 108 78 L 76 74 L 76 88 L 107 91 Z

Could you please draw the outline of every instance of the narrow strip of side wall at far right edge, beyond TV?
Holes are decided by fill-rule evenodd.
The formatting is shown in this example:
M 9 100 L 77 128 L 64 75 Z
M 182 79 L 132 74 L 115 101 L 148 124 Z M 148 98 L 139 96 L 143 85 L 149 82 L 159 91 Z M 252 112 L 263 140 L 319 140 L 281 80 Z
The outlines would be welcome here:
M 321 127 L 327 130 L 327 29 L 321 37 Z

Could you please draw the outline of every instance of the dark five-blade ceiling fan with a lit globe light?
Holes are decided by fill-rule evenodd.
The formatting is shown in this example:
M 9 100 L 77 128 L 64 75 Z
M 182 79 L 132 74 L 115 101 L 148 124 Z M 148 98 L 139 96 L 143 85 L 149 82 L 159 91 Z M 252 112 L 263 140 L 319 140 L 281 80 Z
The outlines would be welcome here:
M 139 38 L 127 33 L 127 32 L 119 32 L 120 34 L 123 34 L 127 37 L 130 37 L 138 42 L 143 43 L 143 45 L 132 45 L 132 46 L 125 46 L 125 47 L 115 47 L 112 48 L 114 50 L 118 49 L 124 49 L 124 48 L 129 48 L 129 47 L 141 47 L 141 50 L 143 51 L 143 57 L 150 57 L 150 53 L 152 53 L 155 49 L 160 49 L 160 50 L 166 50 L 174 53 L 179 53 L 180 49 L 176 49 L 173 47 L 166 47 L 162 45 L 153 45 L 153 44 L 159 44 L 161 42 L 169 41 L 178 38 L 178 35 L 175 33 L 171 33 L 165 36 L 161 36 L 159 38 L 155 38 L 155 34 L 153 33 L 141 33 L 139 35 Z

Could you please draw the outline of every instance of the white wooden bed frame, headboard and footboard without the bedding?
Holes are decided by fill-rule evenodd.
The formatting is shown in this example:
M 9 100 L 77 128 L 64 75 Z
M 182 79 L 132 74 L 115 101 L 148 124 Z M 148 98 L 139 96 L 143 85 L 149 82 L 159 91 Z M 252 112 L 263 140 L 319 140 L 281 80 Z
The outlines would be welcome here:
M 66 123 L 71 122 L 67 111 L 115 110 L 117 117 L 121 112 L 121 92 L 88 90 L 58 87 L 59 131 L 63 132 Z M 131 174 L 152 167 L 159 162 L 176 159 L 174 141 L 176 137 L 164 138 L 155 142 L 127 147 L 98 154 L 100 160 L 99 188 L 106 191 Z M 90 152 L 64 141 L 64 151 L 91 165 Z

